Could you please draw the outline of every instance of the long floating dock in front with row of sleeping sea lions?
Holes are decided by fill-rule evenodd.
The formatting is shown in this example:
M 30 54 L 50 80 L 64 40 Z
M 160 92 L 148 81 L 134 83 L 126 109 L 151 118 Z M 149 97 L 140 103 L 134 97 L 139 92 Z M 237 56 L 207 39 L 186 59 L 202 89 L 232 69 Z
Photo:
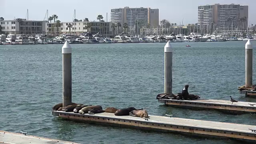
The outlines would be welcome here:
M 192 120 L 184 118 L 172 118 L 169 116 L 150 116 L 149 120 L 134 116 L 115 116 L 113 113 L 100 114 L 76 114 L 74 112 L 53 111 L 54 116 L 68 120 L 82 122 L 98 122 L 100 124 L 113 124 L 121 127 L 132 127 L 153 131 L 164 131 L 195 135 L 204 138 L 235 138 L 256 142 L 256 126 L 245 124 L 232 124 L 224 122 L 212 122 L 205 120 Z M 252 129 L 252 130 L 249 130 Z

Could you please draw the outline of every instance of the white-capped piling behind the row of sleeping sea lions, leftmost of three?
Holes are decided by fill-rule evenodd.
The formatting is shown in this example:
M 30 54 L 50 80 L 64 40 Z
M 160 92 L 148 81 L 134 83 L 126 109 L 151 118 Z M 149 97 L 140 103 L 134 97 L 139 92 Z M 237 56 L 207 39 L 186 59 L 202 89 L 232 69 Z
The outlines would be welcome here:
M 62 46 L 62 105 L 72 103 L 72 47 L 66 41 Z

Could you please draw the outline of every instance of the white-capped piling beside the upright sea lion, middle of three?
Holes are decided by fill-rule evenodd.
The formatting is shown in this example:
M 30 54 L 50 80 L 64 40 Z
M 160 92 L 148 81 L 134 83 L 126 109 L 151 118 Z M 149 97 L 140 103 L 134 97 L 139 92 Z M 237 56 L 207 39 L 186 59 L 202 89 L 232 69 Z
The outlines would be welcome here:
M 169 41 L 164 46 L 164 93 L 172 93 L 172 46 Z

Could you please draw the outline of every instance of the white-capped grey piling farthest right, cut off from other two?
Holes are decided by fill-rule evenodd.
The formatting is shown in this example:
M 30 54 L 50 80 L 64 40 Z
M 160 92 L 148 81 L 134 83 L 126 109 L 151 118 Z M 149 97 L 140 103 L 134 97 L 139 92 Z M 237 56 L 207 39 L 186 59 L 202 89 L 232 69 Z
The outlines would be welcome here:
M 245 87 L 252 86 L 252 45 L 250 40 L 245 44 Z

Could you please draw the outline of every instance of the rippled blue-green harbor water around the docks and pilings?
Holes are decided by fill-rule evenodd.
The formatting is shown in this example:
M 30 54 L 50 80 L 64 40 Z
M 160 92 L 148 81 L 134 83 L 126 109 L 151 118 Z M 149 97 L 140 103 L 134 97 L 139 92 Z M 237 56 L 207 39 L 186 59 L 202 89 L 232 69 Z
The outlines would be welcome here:
M 246 42 L 172 43 L 173 92 L 190 84 L 201 98 L 256 102 L 238 94 L 244 84 Z M 256 46 L 255 42 L 252 42 Z M 134 106 L 151 115 L 255 125 L 255 114 L 228 115 L 162 106 L 156 95 L 164 91 L 164 45 L 73 44 L 72 100 L 103 108 Z M 0 46 L 0 129 L 80 143 L 234 144 L 134 129 L 84 124 L 52 116 L 62 101 L 62 45 Z M 253 77 L 256 77 L 254 47 Z M 255 79 L 254 79 L 255 83 Z

